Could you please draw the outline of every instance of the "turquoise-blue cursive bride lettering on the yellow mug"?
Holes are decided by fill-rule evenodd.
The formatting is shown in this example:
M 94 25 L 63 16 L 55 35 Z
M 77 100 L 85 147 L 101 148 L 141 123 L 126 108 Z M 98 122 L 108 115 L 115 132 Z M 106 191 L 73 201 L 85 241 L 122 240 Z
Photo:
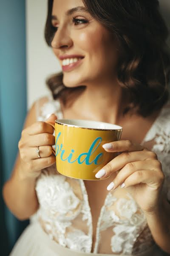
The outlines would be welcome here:
M 98 137 L 98 138 L 96 138 L 96 139 L 94 140 L 94 142 L 91 144 L 91 146 L 90 146 L 90 148 L 89 148 L 89 150 L 88 150 L 87 153 L 86 153 L 86 152 L 85 152 L 85 153 L 82 153 L 82 154 L 79 155 L 79 157 L 78 157 L 77 159 L 71 161 L 71 159 L 72 159 L 73 154 L 74 154 L 75 151 L 74 151 L 74 149 L 71 149 L 71 153 L 69 154 L 69 156 L 64 159 L 65 149 L 62 149 L 62 146 L 63 146 L 62 143 L 61 143 L 60 147 L 59 147 L 59 145 L 57 144 L 60 135 L 61 135 L 61 132 L 59 132 L 59 134 L 58 134 L 58 136 L 57 136 L 55 147 L 56 147 L 56 156 L 61 152 L 61 154 L 60 154 L 60 159 L 61 159 L 62 161 L 68 160 L 68 163 L 74 163 L 74 162 L 77 161 L 79 164 L 82 164 L 82 163 L 85 162 L 86 165 L 90 165 L 90 164 L 92 164 L 92 163 L 98 165 L 98 164 L 101 164 L 101 163 L 103 162 L 103 160 L 100 161 L 100 162 L 98 162 L 98 160 L 99 160 L 100 158 L 102 158 L 103 153 L 98 154 L 98 155 L 95 157 L 95 159 L 94 159 L 93 161 L 89 162 L 91 155 L 96 151 L 96 149 L 99 147 L 100 143 L 102 142 L 102 138 L 101 138 L 101 137 Z M 83 156 L 85 156 L 85 157 L 82 159 Z

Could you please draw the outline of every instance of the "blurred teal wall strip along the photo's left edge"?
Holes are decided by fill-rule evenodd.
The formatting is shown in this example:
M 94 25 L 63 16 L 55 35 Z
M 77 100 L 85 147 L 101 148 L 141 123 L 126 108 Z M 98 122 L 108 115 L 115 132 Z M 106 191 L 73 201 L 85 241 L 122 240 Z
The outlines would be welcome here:
M 0 186 L 10 177 L 26 116 L 26 5 L 0 0 Z M 1 253 L 7 255 L 27 222 L 18 221 L 0 193 Z M 2 239 L 3 238 L 3 239 Z

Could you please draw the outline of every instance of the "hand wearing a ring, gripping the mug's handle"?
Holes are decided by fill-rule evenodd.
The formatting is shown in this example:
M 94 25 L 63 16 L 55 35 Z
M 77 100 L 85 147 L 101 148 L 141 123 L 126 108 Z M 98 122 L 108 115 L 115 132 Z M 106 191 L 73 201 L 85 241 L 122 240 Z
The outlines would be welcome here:
M 22 131 L 18 143 L 22 179 L 36 178 L 42 169 L 55 163 L 56 157 L 52 152 L 52 145 L 55 145 L 54 128 L 48 122 L 54 123 L 56 119 L 57 116 L 52 114 L 45 122 L 35 122 Z M 38 146 L 41 158 L 36 152 Z

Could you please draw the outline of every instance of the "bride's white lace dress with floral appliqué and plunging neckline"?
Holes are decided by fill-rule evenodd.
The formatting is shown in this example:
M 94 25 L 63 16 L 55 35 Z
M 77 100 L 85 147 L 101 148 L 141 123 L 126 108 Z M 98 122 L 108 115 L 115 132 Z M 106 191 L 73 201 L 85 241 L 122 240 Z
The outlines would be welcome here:
M 51 113 L 62 118 L 59 100 L 49 96 L 41 109 L 37 105 L 37 120 L 44 121 Z M 163 189 L 170 201 L 170 102 L 142 144 L 162 163 Z M 92 215 L 84 181 L 59 174 L 53 165 L 42 170 L 36 191 L 40 207 L 11 256 L 167 255 L 153 241 L 142 210 L 125 189 L 108 192 L 97 222 L 93 251 Z

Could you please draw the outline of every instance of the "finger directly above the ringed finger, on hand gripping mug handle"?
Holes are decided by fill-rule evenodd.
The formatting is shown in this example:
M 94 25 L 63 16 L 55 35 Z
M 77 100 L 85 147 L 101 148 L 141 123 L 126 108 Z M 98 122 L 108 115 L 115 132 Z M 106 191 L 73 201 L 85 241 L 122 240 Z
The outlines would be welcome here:
M 36 134 L 29 136 L 26 143 L 30 147 L 38 147 L 45 145 L 55 145 L 55 137 L 49 133 Z

